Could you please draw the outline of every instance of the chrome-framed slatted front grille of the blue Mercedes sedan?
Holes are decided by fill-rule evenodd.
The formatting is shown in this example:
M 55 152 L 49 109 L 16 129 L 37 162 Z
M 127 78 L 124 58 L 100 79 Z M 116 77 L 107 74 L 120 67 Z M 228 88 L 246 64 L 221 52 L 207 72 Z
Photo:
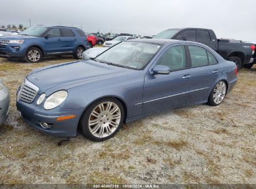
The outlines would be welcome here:
M 19 92 L 19 99 L 21 101 L 24 101 L 25 103 L 32 103 L 38 91 L 39 88 L 26 79 L 21 86 L 21 91 Z

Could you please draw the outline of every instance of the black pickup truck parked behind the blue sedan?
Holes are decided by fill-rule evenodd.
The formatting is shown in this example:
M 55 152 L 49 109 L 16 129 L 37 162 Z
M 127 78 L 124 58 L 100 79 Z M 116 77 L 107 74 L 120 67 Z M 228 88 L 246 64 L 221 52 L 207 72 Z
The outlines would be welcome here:
M 217 39 L 214 31 L 211 29 L 168 29 L 160 32 L 154 38 L 189 40 L 208 45 L 225 60 L 235 62 L 237 64 L 237 70 L 254 62 L 254 44 L 241 43 L 229 39 Z

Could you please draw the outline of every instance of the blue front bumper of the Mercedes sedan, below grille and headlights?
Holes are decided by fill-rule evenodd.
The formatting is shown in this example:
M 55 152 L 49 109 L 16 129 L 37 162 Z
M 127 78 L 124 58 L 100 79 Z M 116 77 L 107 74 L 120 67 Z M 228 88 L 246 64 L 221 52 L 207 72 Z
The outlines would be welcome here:
M 49 134 L 57 137 L 76 137 L 77 136 L 77 126 L 80 119 L 80 115 L 83 112 L 82 108 L 79 109 L 64 109 L 64 108 L 54 108 L 51 110 L 45 110 L 42 108 L 42 104 L 36 105 L 37 97 L 34 101 L 29 103 L 24 103 L 17 99 L 17 110 L 20 112 L 21 118 L 23 118 L 29 126 L 34 127 L 40 132 Z M 57 121 L 57 118 L 61 116 L 76 115 L 73 119 L 67 119 L 65 121 Z M 41 126 L 41 122 L 50 124 L 52 127 L 50 129 L 45 129 Z

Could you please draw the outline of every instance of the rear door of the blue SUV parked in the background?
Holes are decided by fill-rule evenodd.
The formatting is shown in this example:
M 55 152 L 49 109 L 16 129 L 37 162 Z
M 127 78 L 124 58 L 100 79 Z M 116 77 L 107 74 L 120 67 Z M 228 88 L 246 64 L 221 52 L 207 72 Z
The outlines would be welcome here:
M 75 51 L 75 41 L 77 40 L 75 34 L 71 29 L 60 29 L 62 34 L 61 43 L 62 43 L 62 52 L 72 53 Z

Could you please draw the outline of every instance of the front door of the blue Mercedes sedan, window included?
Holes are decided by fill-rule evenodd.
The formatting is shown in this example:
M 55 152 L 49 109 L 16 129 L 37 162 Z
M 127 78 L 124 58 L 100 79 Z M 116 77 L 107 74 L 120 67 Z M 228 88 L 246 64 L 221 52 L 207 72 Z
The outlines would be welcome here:
M 171 72 L 169 75 L 152 75 L 149 68 L 145 76 L 143 114 L 188 103 L 190 73 L 186 70 L 185 46 L 166 48 L 152 67 L 155 65 L 169 67 Z

